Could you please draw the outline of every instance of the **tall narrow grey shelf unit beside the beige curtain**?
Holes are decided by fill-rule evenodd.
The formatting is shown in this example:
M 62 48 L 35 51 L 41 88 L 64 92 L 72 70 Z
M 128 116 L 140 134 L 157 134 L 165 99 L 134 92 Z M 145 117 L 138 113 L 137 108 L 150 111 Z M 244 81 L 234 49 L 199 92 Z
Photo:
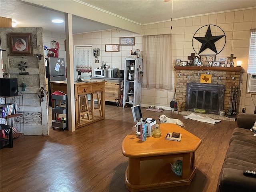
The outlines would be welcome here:
M 125 59 L 123 107 L 140 104 L 142 73 L 141 58 Z

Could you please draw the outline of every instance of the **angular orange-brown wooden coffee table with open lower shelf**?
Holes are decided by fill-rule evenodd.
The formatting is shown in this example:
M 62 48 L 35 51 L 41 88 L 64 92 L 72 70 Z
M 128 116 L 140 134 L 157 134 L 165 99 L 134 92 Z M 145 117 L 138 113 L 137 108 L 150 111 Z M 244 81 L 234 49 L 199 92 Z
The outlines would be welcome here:
M 189 185 L 196 174 L 195 152 L 200 138 L 175 124 L 160 124 L 160 130 L 160 138 L 141 141 L 131 134 L 122 142 L 122 153 L 129 158 L 125 183 L 131 192 Z M 166 140 L 168 132 L 180 132 L 181 141 Z M 171 169 L 177 159 L 182 160 L 182 176 Z

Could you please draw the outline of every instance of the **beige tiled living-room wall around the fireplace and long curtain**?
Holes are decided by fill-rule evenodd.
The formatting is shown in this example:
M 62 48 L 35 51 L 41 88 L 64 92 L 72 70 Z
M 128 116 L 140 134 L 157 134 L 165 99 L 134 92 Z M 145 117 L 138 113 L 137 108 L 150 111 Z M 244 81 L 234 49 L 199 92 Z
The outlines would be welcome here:
M 202 26 L 213 24 L 222 28 L 226 34 L 225 48 L 216 56 L 228 57 L 230 54 L 236 56 L 236 61 L 242 61 L 242 83 L 240 106 L 246 107 L 246 112 L 254 113 L 255 95 L 251 96 L 246 93 L 247 64 L 249 54 L 250 29 L 256 28 L 256 9 L 238 10 L 232 12 L 223 12 L 192 18 L 184 18 L 172 21 L 172 64 L 170 72 L 173 73 L 172 82 L 175 87 L 176 71 L 174 70 L 175 60 L 188 60 L 188 56 L 194 52 L 192 48 L 192 38 L 194 33 Z M 146 25 L 143 28 L 144 35 L 166 34 L 170 32 L 170 22 Z M 203 54 L 212 54 L 212 52 L 203 52 Z M 168 70 L 168 69 L 167 69 Z M 164 106 L 170 107 L 170 101 L 174 96 L 174 90 L 142 90 L 142 106 Z

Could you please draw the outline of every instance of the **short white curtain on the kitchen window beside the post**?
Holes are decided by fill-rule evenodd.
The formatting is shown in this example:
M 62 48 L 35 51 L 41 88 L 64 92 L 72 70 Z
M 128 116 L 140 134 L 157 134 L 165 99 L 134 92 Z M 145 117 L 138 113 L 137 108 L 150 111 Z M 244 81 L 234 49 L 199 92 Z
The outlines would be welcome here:
M 76 71 L 92 71 L 92 47 L 76 47 Z

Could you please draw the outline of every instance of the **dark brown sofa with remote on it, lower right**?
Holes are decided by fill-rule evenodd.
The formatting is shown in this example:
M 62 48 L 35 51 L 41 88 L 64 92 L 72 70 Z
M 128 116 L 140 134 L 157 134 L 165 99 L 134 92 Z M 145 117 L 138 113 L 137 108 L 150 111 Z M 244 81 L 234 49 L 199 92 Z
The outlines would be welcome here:
M 256 192 L 256 178 L 244 170 L 256 171 L 256 137 L 250 131 L 256 114 L 238 114 L 236 128 L 218 178 L 217 192 Z

